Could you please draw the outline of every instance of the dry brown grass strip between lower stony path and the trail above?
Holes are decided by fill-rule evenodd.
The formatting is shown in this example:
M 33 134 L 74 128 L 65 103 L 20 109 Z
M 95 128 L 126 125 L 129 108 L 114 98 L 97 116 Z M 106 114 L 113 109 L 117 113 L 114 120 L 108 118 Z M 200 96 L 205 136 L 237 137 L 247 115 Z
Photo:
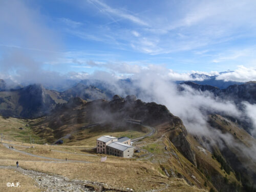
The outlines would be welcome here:
M 0 163 L 9 165 L 10 162 L 6 160 Z M 142 161 L 107 160 L 104 163 L 90 164 L 22 161 L 20 167 L 58 174 L 69 179 L 98 181 L 114 187 L 129 187 L 135 191 L 160 189 L 165 186 L 161 183 L 169 184 L 172 191 L 199 191 L 196 190 L 198 188 L 187 185 L 183 179 L 163 176 L 159 172 L 158 165 Z

